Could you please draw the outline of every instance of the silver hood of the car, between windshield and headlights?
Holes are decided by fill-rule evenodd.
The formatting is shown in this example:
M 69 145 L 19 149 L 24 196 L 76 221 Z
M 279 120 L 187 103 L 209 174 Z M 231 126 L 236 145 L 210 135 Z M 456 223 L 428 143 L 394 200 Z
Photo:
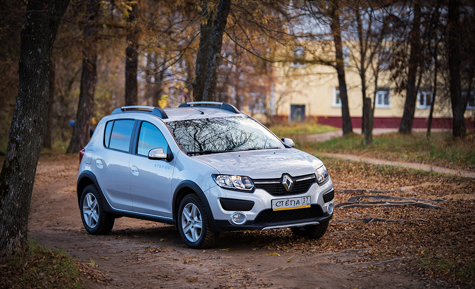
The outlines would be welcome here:
M 273 179 L 283 173 L 296 177 L 315 172 L 323 162 L 295 148 L 259 149 L 194 156 L 220 174 Z

